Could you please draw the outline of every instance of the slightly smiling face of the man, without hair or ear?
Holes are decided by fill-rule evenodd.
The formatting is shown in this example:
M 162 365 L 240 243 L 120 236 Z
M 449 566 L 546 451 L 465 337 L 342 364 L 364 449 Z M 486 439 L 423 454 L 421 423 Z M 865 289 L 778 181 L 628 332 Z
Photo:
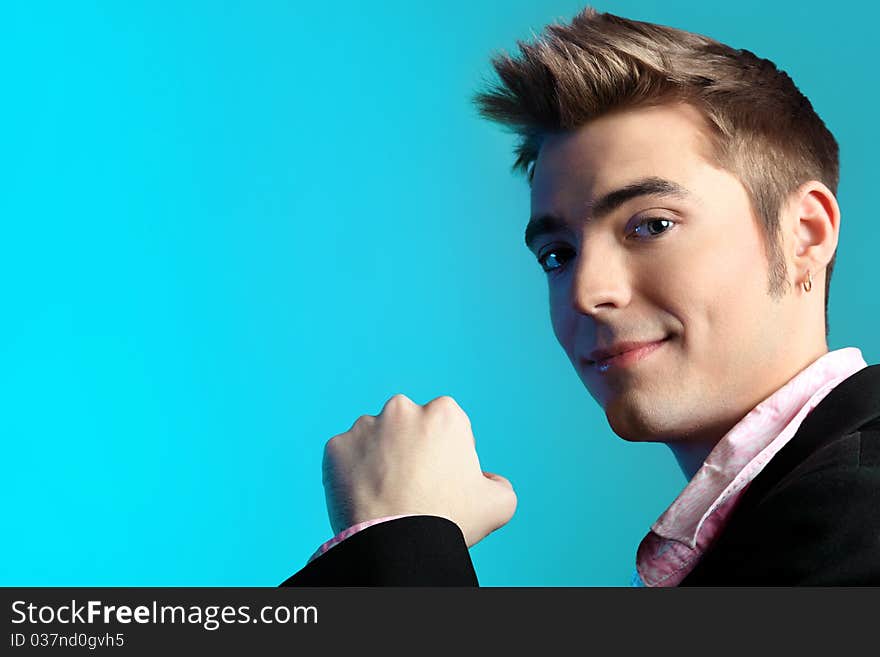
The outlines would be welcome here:
M 683 104 L 616 112 L 548 137 L 535 165 L 532 218 L 564 222 L 530 246 L 551 270 L 554 333 L 627 440 L 717 440 L 800 369 L 793 295 L 768 295 L 761 229 L 742 184 L 707 160 L 704 125 Z M 654 193 L 599 203 L 645 179 Z M 588 362 L 664 338 L 628 365 Z

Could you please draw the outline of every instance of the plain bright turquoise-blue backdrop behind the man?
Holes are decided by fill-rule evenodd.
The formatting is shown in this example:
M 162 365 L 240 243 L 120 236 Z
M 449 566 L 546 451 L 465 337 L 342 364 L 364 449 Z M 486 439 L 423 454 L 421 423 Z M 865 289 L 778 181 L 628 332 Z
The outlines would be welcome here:
M 513 520 L 483 585 L 628 585 L 686 483 L 553 337 L 489 56 L 582 2 L 6 2 L 3 585 L 275 585 L 325 441 L 452 395 Z M 600 2 L 775 61 L 841 144 L 829 347 L 880 359 L 862 3 Z

